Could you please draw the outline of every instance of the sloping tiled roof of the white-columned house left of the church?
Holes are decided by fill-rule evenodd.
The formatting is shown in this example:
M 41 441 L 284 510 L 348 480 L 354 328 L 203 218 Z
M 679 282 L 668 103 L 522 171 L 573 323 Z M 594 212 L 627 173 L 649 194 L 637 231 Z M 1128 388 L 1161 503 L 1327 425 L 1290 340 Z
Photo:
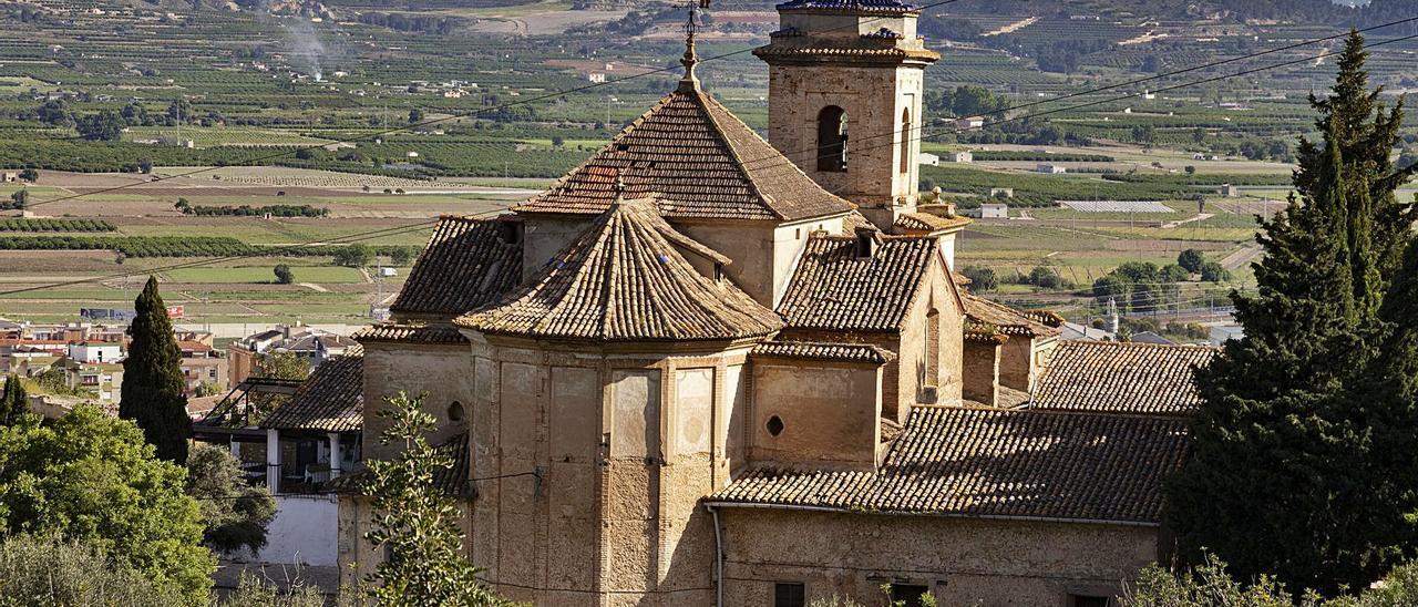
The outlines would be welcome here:
M 353 433 L 364 427 L 364 356 L 332 357 L 311 373 L 262 428 Z

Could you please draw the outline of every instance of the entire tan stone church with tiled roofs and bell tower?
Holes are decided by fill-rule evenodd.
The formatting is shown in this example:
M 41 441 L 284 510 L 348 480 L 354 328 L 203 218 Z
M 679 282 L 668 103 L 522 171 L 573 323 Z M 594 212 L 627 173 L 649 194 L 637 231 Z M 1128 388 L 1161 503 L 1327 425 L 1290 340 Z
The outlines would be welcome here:
M 678 88 L 583 166 L 442 218 L 356 336 L 364 458 L 393 455 L 383 399 L 424 394 L 469 559 L 539 606 L 1106 604 L 1168 555 L 1211 350 L 1064 342 L 970 294 L 968 220 L 917 201 L 917 10 L 778 11 L 767 140 L 691 27 Z M 372 570 L 369 503 L 339 512 L 342 570 Z

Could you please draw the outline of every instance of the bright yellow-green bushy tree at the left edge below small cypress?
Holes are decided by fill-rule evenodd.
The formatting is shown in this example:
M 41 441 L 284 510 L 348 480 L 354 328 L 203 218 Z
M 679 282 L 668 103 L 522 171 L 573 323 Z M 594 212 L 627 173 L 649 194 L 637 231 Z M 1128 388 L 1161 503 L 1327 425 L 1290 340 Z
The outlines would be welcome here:
M 207 600 L 213 555 L 201 547 L 186 471 L 153 457 L 130 421 L 79 406 L 54 421 L 0 427 L 0 530 L 62 535 L 92 546 L 184 603 Z M 146 604 L 146 603 L 143 603 Z

